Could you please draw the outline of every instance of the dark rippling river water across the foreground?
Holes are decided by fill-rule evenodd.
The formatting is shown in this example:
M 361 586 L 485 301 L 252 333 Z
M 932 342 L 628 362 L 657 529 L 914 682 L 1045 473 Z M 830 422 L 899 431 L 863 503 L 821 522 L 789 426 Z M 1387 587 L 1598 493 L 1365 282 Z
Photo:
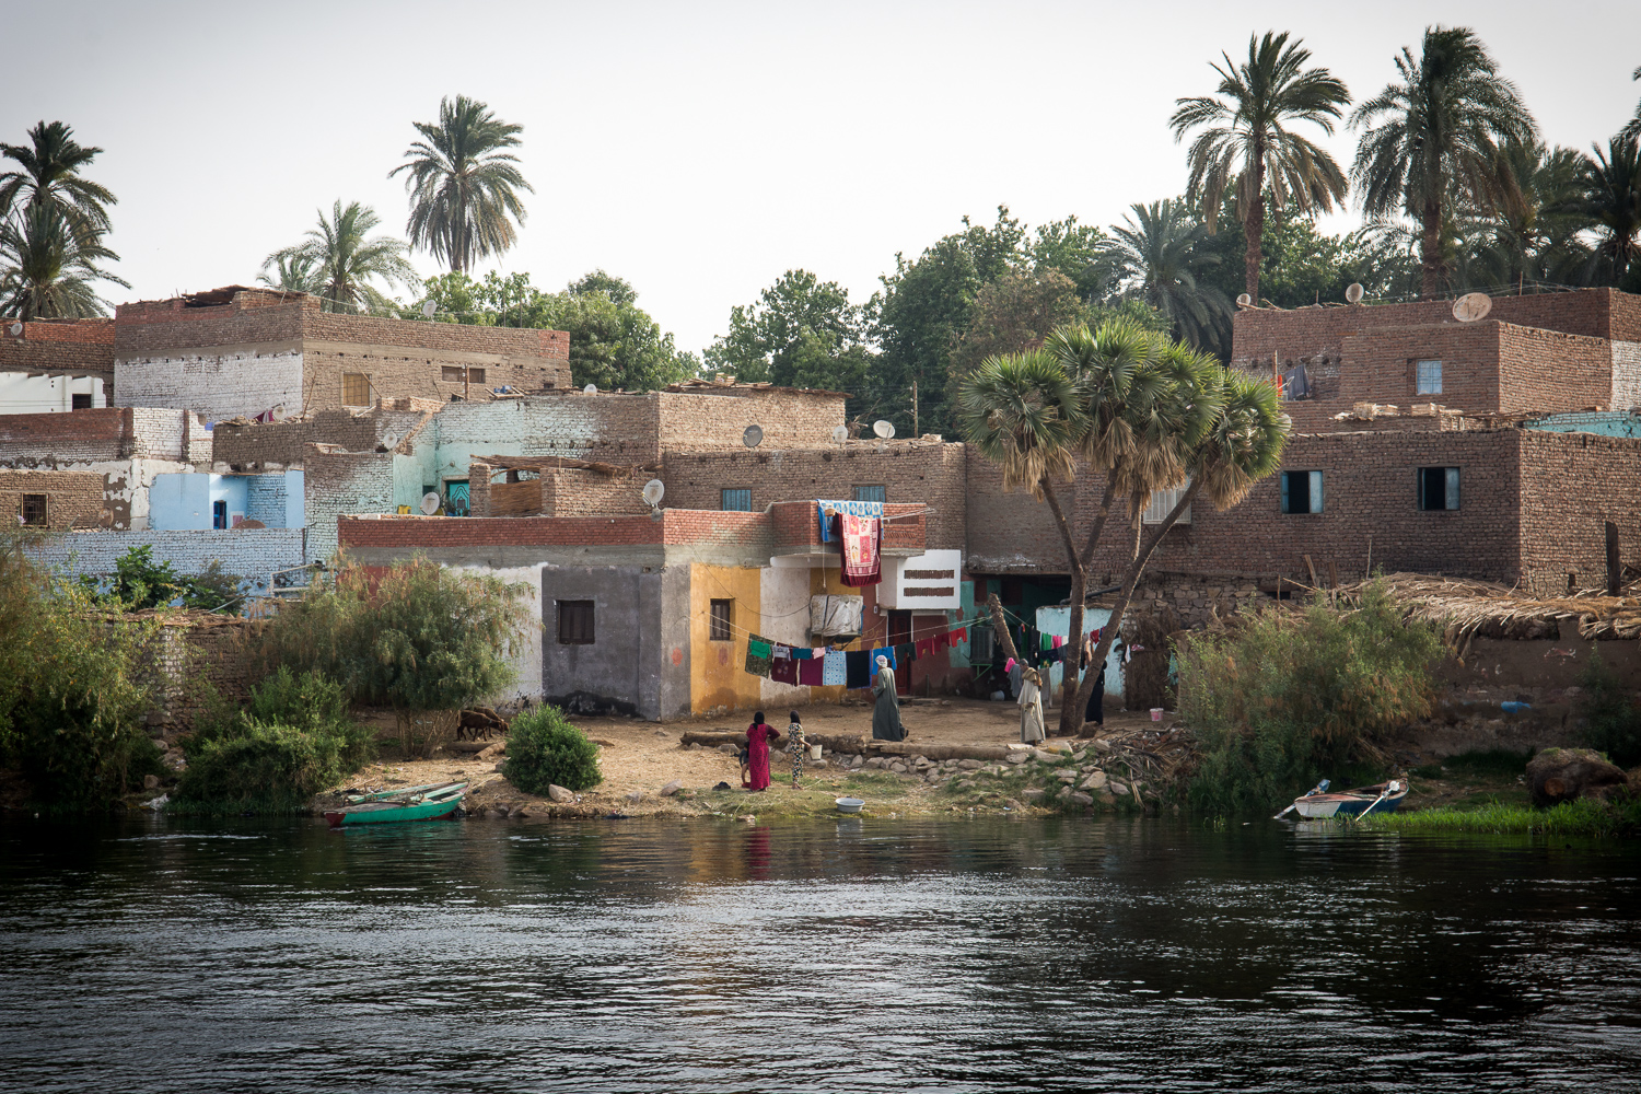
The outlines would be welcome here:
M 1638 1089 L 1634 845 L 0 825 L 7 1091 Z

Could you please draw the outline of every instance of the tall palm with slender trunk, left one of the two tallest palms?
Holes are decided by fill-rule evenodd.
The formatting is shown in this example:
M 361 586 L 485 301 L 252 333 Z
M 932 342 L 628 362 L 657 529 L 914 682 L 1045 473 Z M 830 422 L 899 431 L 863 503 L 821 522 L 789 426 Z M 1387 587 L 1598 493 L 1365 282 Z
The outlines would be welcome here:
M 1219 74 L 1224 98 L 1180 98 L 1168 125 L 1173 139 L 1186 130 L 1203 130 L 1186 154 L 1191 180 L 1186 197 L 1203 208 L 1208 231 L 1219 228 L 1219 203 L 1236 187 L 1236 210 L 1247 236 L 1247 295 L 1259 300 L 1260 243 L 1265 235 L 1265 189 L 1278 210 L 1291 202 L 1300 212 L 1332 212 L 1349 184 L 1339 164 L 1310 139 L 1291 133 L 1295 121 L 1310 121 L 1332 134 L 1332 125 L 1351 103 L 1344 82 L 1328 69 L 1306 69 L 1311 51 L 1288 36 L 1265 31 L 1247 39 L 1247 61 L 1231 54 Z

